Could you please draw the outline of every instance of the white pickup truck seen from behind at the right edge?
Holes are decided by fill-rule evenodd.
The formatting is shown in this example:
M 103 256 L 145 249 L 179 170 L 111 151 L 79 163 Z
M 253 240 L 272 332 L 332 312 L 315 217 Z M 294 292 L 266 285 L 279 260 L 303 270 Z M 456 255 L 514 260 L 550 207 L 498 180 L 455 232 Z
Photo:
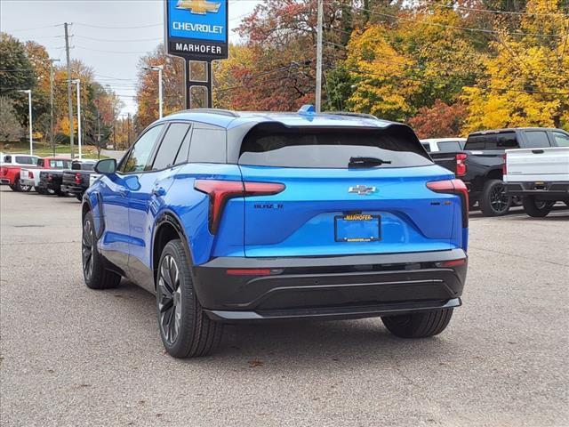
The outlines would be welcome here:
M 506 190 L 522 197 L 526 214 L 546 216 L 556 202 L 569 206 L 569 147 L 507 149 L 504 156 Z

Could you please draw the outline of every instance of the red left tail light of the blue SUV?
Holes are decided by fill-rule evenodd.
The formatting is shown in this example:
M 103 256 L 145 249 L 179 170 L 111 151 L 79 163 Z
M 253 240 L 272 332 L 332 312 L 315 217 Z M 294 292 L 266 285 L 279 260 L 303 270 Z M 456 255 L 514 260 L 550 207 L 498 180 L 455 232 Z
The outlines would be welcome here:
M 196 180 L 194 188 L 210 197 L 209 226 L 210 232 L 215 234 L 229 198 L 272 196 L 283 191 L 285 187 L 277 182 Z

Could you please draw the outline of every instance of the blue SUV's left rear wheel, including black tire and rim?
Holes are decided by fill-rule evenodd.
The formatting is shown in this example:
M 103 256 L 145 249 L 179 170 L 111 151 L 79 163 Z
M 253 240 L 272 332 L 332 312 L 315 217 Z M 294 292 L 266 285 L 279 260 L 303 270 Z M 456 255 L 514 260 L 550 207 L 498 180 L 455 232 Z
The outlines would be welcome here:
M 208 318 L 197 301 L 180 239 L 164 246 L 156 275 L 158 328 L 168 354 L 174 358 L 210 354 L 221 341 L 223 324 Z

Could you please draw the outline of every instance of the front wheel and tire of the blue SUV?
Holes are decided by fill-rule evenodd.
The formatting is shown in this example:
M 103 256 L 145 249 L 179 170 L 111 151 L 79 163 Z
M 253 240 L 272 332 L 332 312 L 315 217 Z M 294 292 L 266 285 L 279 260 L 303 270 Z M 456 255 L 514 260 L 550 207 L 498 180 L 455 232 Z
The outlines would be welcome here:
M 121 282 L 120 275 L 105 269 L 102 257 L 97 251 L 95 228 L 91 212 L 83 220 L 83 238 L 81 239 L 81 259 L 85 285 L 91 289 L 108 289 Z

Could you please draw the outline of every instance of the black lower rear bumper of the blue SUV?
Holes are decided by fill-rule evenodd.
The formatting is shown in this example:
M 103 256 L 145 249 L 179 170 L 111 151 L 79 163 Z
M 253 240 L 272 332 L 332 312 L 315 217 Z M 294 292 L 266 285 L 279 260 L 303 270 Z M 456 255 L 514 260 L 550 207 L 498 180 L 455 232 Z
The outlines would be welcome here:
M 441 262 L 462 260 L 461 265 Z M 229 275 L 227 270 L 269 270 Z M 458 307 L 466 279 L 461 249 L 414 254 L 215 258 L 194 268 L 211 318 L 365 318 Z M 257 273 L 258 274 L 258 273 Z

